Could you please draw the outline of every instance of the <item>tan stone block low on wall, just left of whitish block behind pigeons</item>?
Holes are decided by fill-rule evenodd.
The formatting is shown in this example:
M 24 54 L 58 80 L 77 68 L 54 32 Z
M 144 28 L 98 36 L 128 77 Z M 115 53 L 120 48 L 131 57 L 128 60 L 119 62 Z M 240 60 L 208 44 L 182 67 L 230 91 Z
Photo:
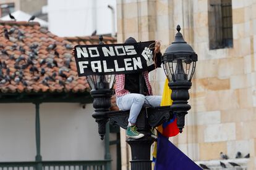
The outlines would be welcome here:
M 226 153 L 226 142 L 211 142 L 199 144 L 199 160 L 218 160 L 220 152 Z

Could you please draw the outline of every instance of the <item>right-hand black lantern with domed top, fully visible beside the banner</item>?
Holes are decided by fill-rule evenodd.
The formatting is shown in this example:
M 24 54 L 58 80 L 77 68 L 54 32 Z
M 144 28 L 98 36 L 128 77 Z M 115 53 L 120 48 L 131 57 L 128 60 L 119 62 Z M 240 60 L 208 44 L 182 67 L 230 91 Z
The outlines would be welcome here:
M 185 115 L 190 110 L 189 89 L 192 86 L 191 79 L 195 72 L 197 54 L 192 47 L 184 41 L 179 32 L 181 26 L 177 25 L 177 34 L 174 42 L 166 49 L 162 56 L 164 73 L 168 78 L 168 85 L 172 89 L 171 106 L 173 113 L 177 116 L 177 127 L 182 132 L 185 124 Z

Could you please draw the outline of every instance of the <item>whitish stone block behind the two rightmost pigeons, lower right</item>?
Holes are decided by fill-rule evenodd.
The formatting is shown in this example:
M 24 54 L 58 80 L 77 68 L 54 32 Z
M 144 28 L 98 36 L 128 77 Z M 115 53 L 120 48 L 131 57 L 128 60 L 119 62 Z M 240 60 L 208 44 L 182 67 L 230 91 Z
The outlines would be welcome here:
M 227 155 L 230 159 L 236 158 L 236 153 L 241 152 L 242 156 L 250 153 L 249 140 L 233 140 L 227 142 Z

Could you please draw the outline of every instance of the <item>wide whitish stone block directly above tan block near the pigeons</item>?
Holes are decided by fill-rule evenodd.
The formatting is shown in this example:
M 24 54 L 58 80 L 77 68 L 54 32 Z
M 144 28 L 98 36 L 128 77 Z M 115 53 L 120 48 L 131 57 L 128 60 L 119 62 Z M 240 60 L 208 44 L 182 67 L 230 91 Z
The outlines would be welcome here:
M 208 124 L 204 131 L 205 142 L 221 142 L 236 139 L 236 124 Z

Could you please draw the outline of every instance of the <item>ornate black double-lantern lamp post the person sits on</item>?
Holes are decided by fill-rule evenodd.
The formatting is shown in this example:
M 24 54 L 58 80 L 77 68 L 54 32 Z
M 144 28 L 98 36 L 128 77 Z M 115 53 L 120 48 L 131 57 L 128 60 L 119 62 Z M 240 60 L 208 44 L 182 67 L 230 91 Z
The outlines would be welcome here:
M 132 161 L 130 161 L 132 170 L 151 170 L 150 147 L 155 140 L 150 136 L 151 127 L 159 126 L 168 121 L 173 118 L 173 114 L 177 115 L 177 125 L 180 132 L 184 127 L 184 117 L 190 109 L 190 105 L 187 104 L 187 100 L 189 100 L 188 90 L 192 85 L 191 79 L 195 71 L 197 54 L 184 41 L 182 34 L 179 33 L 180 30 L 178 25 L 175 41 L 166 49 L 162 59 L 164 71 L 169 80 L 169 87 L 173 90 L 171 95 L 173 105 L 171 107 L 143 107 L 140 111 L 137 127 L 138 131 L 145 134 L 145 137 L 126 140 L 132 151 Z M 100 36 L 100 44 L 103 44 L 102 40 L 103 38 Z M 98 123 L 101 139 L 104 138 L 108 121 L 126 129 L 129 110 L 109 111 L 111 107 L 110 97 L 113 95 L 114 75 L 87 76 L 87 82 L 92 89 L 91 95 L 95 108 L 95 113 L 92 116 Z

